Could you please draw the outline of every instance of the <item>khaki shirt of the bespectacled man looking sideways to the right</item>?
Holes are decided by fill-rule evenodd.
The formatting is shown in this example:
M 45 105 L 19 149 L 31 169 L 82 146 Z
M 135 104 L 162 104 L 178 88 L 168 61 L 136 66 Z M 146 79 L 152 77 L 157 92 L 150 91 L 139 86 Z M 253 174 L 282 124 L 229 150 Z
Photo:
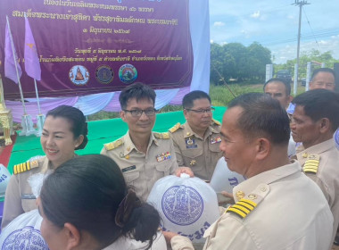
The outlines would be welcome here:
M 204 137 L 194 133 L 188 123 L 178 123 L 170 129 L 170 137 L 177 155 L 178 166 L 190 167 L 194 176 L 211 180 L 213 171 L 222 152 L 219 121 L 212 121 Z

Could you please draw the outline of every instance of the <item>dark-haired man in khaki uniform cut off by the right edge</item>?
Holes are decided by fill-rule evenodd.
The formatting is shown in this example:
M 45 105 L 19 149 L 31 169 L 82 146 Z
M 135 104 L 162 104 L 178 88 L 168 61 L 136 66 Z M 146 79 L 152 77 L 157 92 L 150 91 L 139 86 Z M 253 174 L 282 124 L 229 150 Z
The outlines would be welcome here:
M 339 151 L 333 133 L 339 127 L 339 95 L 314 89 L 294 98 L 292 136 L 302 142 L 296 154 L 302 170 L 323 191 L 335 218 L 332 239 L 339 223 Z

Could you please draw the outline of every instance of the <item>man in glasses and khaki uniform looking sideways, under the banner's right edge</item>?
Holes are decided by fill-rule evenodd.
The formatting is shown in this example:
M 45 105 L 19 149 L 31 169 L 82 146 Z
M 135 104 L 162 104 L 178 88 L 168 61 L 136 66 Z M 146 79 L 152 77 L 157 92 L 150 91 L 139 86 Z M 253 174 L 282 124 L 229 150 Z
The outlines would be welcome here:
M 190 167 L 194 176 L 211 180 L 222 156 L 220 122 L 212 119 L 211 97 L 200 90 L 183 98 L 186 123 L 170 129 L 179 166 Z

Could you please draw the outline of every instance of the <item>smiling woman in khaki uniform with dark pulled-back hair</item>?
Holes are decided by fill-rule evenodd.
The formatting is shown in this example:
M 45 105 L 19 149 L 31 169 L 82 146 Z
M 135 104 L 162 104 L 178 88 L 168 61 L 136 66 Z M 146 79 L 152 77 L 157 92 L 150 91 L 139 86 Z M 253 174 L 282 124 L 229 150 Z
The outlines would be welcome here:
M 47 112 L 41 146 L 45 156 L 36 156 L 17 164 L 4 197 L 4 216 L 1 228 L 21 213 L 37 208 L 36 197 L 29 186 L 29 177 L 53 171 L 75 156 L 74 150 L 87 145 L 87 122 L 79 109 L 62 105 Z

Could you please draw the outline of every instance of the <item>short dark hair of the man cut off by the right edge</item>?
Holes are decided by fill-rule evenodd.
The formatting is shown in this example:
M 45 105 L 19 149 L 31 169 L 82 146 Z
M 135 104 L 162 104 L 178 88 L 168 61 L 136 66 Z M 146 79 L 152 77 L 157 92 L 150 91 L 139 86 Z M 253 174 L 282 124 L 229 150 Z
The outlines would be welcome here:
M 312 121 L 327 118 L 332 130 L 339 127 L 339 94 L 327 89 L 313 89 L 296 96 L 293 103 L 303 106 L 303 111 Z

